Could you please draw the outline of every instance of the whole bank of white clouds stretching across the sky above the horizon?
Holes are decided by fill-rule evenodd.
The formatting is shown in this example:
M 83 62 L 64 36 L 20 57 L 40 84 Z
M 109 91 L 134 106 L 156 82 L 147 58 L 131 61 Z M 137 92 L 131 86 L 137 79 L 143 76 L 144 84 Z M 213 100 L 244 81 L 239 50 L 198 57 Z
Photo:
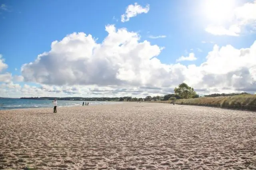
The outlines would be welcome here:
M 10 73 L 0 75 L 0 96 L 138 96 L 172 93 L 186 82 L 198 93 L 256 91 L 256 41 L 248 48 L 214 45 L 201 65 L 164 64 L 156 57 L 161 47 L 125 28 L 106 26 L 108 36 L 96 43 L 89 34 L 74 33 L 54 41 L 51 50 L 22 66 L 24 81 Z M 195 57 L 190 53 L 188 58 Z M 4 63 L 4 62 L 3 62 Z M 58 63 L 53 64 L 53 63 Z M 1 78 L 2 76 L 2 78 Z M 41 85 L 40 85 L 41 84 Z

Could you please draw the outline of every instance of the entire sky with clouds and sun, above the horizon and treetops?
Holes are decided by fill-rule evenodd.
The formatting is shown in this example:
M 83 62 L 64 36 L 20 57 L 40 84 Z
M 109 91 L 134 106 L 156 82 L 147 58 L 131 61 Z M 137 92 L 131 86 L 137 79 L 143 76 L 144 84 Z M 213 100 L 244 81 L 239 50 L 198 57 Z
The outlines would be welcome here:
M 256 0 L 0 0 L 0 97 L 256 93 Z

